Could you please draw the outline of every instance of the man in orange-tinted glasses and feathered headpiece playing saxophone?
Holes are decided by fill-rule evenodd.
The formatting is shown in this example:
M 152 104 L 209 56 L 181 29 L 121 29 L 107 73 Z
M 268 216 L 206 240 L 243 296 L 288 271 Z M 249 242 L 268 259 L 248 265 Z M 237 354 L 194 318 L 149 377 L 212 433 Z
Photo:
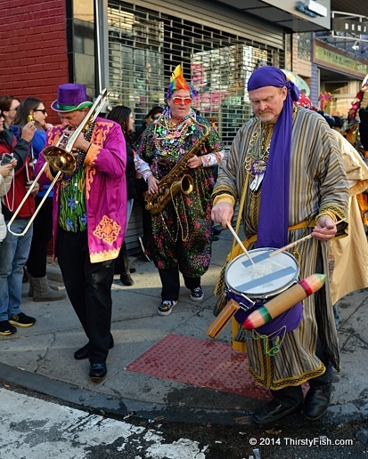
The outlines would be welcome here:
M 224 146 L 217 131 L 192 109 L 195 96 L 177 66 L 168 85 L 168 107 L 147 127 L 136 149 L 136 172 L 148 184 L 148 246 L 162 284 L 160 316 L 168 316 L 178 301 L 179 271 L 192 301 L 203 300 L 200 278 L 211 256 L 211 166 L 224 157 Z

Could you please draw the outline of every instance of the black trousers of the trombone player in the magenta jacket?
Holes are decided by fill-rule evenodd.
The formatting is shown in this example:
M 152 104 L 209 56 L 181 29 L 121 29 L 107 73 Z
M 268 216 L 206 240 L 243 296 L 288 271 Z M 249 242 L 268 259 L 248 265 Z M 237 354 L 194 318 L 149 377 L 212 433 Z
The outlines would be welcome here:
M 115 261 L 90 262 L 86 231 L 72 233 L 59 227 L 56 246 L 65 288 L 89 340 L 89 360 L 103 363 L 110 345 Z

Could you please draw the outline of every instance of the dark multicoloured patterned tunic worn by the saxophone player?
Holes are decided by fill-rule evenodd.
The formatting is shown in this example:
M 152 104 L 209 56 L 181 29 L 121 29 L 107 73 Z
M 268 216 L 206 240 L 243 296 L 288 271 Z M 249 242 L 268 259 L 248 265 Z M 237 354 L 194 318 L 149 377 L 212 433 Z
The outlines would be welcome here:
M 195 117 L 193 112 L 190 115 Z M 176 136 L 176 139 L 172 139 L 175 148 L 170 148 L 170 137 L 164 131 L 164 116 L 151 123 L 136 149 L 138 162 L 141 157 L 150 165 L 155 177 L 163 179 L 184 154 L 200 141 L 207 126 L 209 136 L 196 155 L 205 155 L 206 160 L 206 155 L 220 153 L 224 146 L 217 131 L 203 117 L 196 117 L 196 121 L 184 125 L 180 136 L 173 134 Z M 171 269 L 178 265 L 185 277 L 197 278 L 209 268 L 214 179 L 211 167 L 188 168 L 185 173 L 192 177 L 192 192 L 186 195 L 179 191 L 161 212 L 151 215 L 151 240 L 148 247 L 157 268 Z

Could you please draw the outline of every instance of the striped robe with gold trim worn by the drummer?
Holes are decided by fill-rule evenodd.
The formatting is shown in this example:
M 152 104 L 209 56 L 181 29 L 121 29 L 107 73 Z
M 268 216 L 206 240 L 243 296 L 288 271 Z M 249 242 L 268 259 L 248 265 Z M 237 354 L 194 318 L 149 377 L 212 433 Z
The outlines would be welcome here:
M 252 118 L 237 133 L 225 170 L 218 173 L 214 197 L 224 192 L 235 199 L 241 197 L 249 140 L 258 127 L 258 118 Z M 345 218 L 348 216 L 348 197 L 348 180 L 331 128 L 315 111 L 294 109 L 289 226 L 315 218 L 323 208 L 333 211 L 338 219 Z M 242 213 L 246 238 L 257 234 L 258 206 L 259 197 L 254 197 L 248 189 Z M 307 236 L 311 231 L 312 228 L 290 230 L 289 243 Z M 348 225 L 339 224 L 337 237 L 346 235 L 346 231 Z M 339 370 L 338 338 L 328 278 L 329 246 L 329 242 L 312 238 L 294 247 L 300 278 L 307 278 L 315 272 L 323 272 L 327 278 L 323 289 L 303 302 L 303 319 L 298 328 L 285 334 L 280 350 L 273 357 L 265 355 L 262 340 L 251 339 L 251 334 L 244 332 L 249 338 L 246 340 L 249 372 L 258 383 L 272 390 L 296 386 L 324 373 L 325 366 L 316 356 L 317 336 L 332 365 Z

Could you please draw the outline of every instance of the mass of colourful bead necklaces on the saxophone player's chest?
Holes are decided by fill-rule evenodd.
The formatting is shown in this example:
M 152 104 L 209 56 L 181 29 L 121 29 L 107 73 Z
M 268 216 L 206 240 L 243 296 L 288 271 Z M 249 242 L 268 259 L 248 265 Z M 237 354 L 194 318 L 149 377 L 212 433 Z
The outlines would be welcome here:
M 162 117 L 159 117 L 155 127 L 155 144 L 159 156 L 179 156 L 185 139 L 195 132 L 195 125 L 191 117 L 195 117 L 193 110 L 177 124 L 173 124 L 169 109 L 164 111 Z

